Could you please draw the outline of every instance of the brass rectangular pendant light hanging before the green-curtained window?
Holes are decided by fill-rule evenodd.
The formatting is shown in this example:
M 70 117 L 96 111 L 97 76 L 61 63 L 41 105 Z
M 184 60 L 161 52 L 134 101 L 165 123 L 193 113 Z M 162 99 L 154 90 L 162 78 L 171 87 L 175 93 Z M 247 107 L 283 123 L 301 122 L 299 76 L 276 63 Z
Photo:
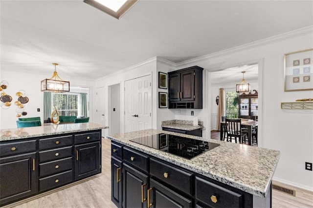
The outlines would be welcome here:
M 69 82 L 62 80 L 57 72 L 56 66 L 58 63 L 52 63 L 54 65 L 54 72 L 50 79 L 41 81 L 41 91 L 47 92 L 69 92 Z

